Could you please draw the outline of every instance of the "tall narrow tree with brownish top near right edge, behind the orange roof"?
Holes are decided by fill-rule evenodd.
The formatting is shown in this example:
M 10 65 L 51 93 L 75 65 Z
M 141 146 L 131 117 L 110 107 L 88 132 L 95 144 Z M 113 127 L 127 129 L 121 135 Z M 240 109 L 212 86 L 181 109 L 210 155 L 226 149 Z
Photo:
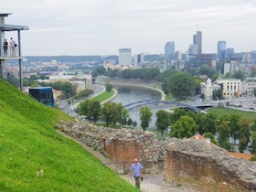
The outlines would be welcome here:
M 246 149 L 247 145 L 250 142 L 250 137 L 251 137 L 250 121 L 248 121 L 247 119 L 242 119 L 240 122 L 240 131 L 239 131 L 240 153 L 243 153 L 243 151 Z

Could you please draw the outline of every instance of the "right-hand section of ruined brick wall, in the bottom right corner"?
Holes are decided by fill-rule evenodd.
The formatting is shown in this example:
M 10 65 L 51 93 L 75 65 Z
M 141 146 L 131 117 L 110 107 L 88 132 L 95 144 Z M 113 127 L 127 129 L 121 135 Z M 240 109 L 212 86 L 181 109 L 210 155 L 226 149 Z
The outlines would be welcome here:
M 256 166 L 251 165 L 251 172 L 241 178 L 241 175 L 237 173 L 240 172 L 240 165 L 244 164 L 245 168 L 245 161 L 233 159 L 232 163 L 229 163 L 230 157 L 225 156 L 220 149 L 211 150 L 211 146 L 209 144 L 207 146 L 202 141 L 185 142 L 190 146 L 193 143 L 199 143 L 202 147 L 200 153 L 193 147 L 190 148 L 193 150 L 187 150 L 190 151 L 188 153 L 183 151 L 184 148 L 182 150 L 176 150 L 174 147 L 167 149 L 165 155 L 165 181 L 194 187 L 197 191 L 235 192 L 256 190 L 256 172 L 253 173 L 253 171 L 256 171 Z M 179 145 L 182 144 L 180 143 Z M 207 147 L 204 147 L 204 145 Z M 209 152 L 212 154 L 206 155 Z M 219 155 L 219 157 L 216 156 L 217 158 L 215 158 L 214 155 Z M 245 169 L 243 171 L 247 172 Z

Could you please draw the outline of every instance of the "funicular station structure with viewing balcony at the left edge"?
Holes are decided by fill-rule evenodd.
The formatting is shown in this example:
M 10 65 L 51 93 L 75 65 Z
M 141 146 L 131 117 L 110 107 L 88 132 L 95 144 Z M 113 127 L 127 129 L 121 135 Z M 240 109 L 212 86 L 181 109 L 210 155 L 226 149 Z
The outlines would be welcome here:
M 23 90 L 23 75 L 22 75 L 22 57 L 21 48 L 21 34 L 20 31 L 28 30 L 27 26 L 17 26 L 17 25 L 7 25 L 5 24 L 5 17 L 12 14 L 0 14 L 0 77 L 9 81 L 16 87 L 18 87 L 21 91 Z M 10 37 L 5 36 L 6 33 L 10 33 L 12 38 L 16 40 L 15 46 L 11 45 L 9 42 Z M 8 42 L 7 50 L 5 53 L 4 42 Z M 6 62 L 8 59 L 16 59 L 18 61 L 19 70 L 18 73 L 11 71 L 6 68 Z

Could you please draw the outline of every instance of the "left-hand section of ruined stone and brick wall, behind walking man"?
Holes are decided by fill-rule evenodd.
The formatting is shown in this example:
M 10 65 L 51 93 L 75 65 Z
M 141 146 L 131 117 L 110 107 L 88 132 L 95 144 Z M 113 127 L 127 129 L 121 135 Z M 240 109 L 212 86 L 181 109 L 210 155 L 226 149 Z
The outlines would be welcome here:
M 136 129 L 112 129 L 86 122 L 63 123 L 59 130 L 100 151 L 112 162 L 125 161 L 129 171 L 134 158 L 144 165 L 145 173 L 163 170 L 166 144 L 158 144 L 154 133 Z M 120 164 L 122 165 L 122 164 Z

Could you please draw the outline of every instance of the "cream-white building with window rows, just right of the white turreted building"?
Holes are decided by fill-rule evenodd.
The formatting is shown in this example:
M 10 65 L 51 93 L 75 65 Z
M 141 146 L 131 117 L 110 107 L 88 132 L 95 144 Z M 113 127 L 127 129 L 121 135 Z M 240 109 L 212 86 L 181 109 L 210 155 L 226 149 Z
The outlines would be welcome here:
M 240 97 L 241 80 L 217 80 L 217 84 L 220 85 L 223 91 L 223 98 L 231 99 Z

